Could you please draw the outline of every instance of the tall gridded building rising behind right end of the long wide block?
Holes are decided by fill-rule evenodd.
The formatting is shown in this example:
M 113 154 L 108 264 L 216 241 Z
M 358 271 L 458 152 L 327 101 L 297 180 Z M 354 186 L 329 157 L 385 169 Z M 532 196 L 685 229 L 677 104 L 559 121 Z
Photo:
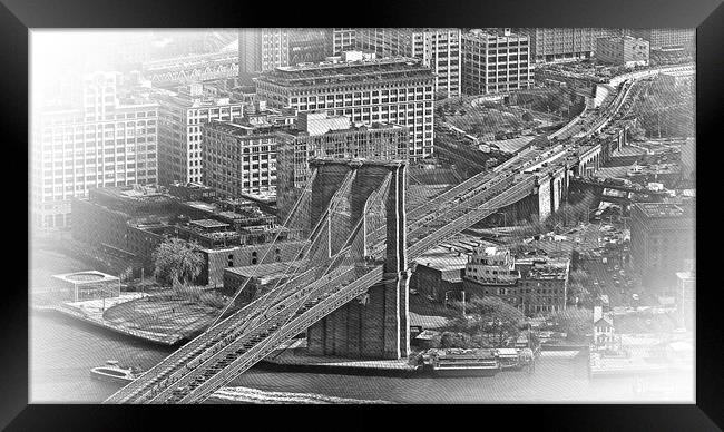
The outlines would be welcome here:
M 436 76 L 434 91 L 443 97 L 461 91 L 460 29 L 390 29 L 356 30 L 356 46 L 378 57 L 403 56 L 422 60 Z

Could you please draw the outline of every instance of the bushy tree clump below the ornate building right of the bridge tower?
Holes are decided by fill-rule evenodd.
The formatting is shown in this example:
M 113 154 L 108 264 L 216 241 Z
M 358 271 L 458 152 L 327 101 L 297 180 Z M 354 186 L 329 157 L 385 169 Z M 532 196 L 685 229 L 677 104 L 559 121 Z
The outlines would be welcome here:
M 453 306 L 462 311 L 462 302 L 456 302 Z M 498 297 L 473 296 L 464 308 L 466 316 L 452 320 L 450 328 L 471 335 L 492 334 L 499 343 L 517 337 L 520 333 L 519 325 L 526 317 L 522 312 Z

